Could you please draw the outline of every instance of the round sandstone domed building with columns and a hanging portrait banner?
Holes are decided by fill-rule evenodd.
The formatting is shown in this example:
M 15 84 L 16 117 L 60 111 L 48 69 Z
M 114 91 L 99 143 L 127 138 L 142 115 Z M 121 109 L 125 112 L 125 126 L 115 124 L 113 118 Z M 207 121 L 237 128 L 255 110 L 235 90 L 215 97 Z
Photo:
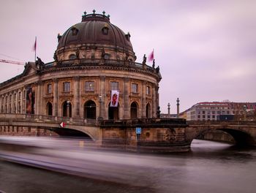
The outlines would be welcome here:
M 86 119 L 157 117 L 159 67 L 137 63 L 130 34 L 109 15 L 84 13 L 58 35 L 54 61 L 40 58 L 0 84 L 1 113 Z

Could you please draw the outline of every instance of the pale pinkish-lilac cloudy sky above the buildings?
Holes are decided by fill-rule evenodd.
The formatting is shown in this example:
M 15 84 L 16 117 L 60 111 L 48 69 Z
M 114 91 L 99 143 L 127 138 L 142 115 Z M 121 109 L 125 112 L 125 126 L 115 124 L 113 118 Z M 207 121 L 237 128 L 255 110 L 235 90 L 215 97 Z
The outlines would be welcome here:
M 80 23 L 83 12 L 110 15 L 125 33 L 137 62 L 154 49 L 161 113 L 197 102 L 256 102 L 255 0 L 0 0 L 0 58 L 53 61 L 57 34 Z M 148 65 L 151 65 L 148 63 Z M 0 83 L 24 67 L 0 63 Z

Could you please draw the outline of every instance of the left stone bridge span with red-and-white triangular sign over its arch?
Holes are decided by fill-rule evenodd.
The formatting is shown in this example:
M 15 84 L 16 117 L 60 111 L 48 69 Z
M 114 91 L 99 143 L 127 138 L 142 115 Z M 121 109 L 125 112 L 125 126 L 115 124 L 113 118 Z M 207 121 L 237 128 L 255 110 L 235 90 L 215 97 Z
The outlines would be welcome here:
M 60 126 L 61 122 L 66 125 Z M 74 136 L 99 140 L 100 130 L 94 119 L 40 116 L 27 114 L 0 114 L 0 135 Z

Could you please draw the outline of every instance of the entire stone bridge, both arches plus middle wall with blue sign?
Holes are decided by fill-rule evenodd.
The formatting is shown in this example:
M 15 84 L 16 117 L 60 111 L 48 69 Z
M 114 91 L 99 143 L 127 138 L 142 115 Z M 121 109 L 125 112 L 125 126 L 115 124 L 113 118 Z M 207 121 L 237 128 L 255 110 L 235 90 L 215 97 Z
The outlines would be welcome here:
M 64 128 L 61 122 L 67 123 Z M 135 128 L 142 128 L 138 140 Z M 190 148 L 192 140 L 207 132 L 222 131 L 239 145 L 256 145 L 256 121 L 186 121 L 185 119 L 140 118 L 103 120 L 57 116 L 0 114 L 0 135 L 80 136 L 89 137 L 100 145 L 136 147 L 151 151 Z M 153 149 L 153 150 L 152 150 Z

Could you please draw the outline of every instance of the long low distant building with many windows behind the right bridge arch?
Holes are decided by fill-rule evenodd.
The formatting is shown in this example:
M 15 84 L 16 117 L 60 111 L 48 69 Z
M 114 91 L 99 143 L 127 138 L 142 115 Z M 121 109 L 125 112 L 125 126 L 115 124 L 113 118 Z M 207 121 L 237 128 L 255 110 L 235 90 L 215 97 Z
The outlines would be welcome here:
M 184 111 L 187 121 L 216 121 L 219 116 L 233 115 L 243 118 L 246 113 L 256 110 L 256 102 L 199 102 Z

